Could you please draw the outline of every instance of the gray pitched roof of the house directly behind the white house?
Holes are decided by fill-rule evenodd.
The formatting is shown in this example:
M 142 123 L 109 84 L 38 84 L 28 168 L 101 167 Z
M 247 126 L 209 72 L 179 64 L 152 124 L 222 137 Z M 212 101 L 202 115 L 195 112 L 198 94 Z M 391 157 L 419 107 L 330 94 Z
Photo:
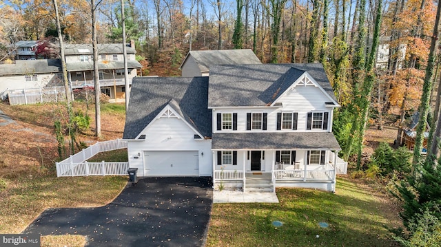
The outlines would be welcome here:
M 180 69 L 185 61 L 192 56 L 201 72 L 208 72 L 213 65 L 240 65 L 240 64 L 261 64 L 259 58 L 251 49 L 240 50 L 207 50 L 189 51 L 185 56 Z

